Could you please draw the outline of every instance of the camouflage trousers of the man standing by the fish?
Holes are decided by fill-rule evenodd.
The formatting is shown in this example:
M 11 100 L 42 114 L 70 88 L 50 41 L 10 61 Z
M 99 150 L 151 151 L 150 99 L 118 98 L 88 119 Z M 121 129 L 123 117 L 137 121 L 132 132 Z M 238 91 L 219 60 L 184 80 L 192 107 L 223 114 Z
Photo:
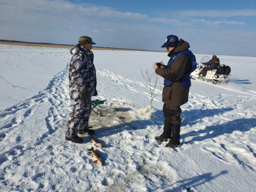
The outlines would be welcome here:
M 76 99 L 73 111 L 68 117 L 67 132 L 68 138 L 77 136 L 78 130 L 88 129 L 89 116 L 92 112 L 92 104 L 90 99 Z

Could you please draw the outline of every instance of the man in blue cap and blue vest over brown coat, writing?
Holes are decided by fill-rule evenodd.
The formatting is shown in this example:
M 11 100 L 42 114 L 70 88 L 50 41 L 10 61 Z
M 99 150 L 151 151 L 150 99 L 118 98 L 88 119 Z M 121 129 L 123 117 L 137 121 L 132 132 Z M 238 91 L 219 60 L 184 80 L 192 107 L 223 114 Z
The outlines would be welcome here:
M 188 50 L 188 42 L 179 40 L 175 35 L 168 35 L 162 47 L 166 47 L 170 60 L 167 65 L 169 70 L 153 64 L 156 74 L 164 78 L 164 131 L 156 140 L 162 142 L 170 139 L 166 147 L 175 148 L 180 145 L 180 106 L 188 102 L 190 74 L 196 68 L 196 58 Z

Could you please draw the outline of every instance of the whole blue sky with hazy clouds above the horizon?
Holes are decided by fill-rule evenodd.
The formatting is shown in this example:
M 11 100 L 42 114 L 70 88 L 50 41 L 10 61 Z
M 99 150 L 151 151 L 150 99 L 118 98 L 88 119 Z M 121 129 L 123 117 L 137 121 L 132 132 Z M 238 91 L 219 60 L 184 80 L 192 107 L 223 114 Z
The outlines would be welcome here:
M 195 53 L 256 56 L 256 1 L 0 0 L 0 39 L 164 51 L 166 36 Z

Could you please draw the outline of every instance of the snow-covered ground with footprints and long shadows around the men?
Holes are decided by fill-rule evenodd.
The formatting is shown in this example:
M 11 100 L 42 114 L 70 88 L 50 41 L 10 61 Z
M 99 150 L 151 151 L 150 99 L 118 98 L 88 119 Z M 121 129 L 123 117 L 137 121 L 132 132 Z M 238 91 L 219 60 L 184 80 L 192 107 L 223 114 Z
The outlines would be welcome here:
M 93 99 L 106 99 L 104 116 L 90 117 L 102 167 L 92 163 L 89 138 L 65 140 L 69 50 L 0 45 L 0 191 L 255 191 L 256 58 L 218 56 L 231 67 L 227 84 L 192 81 L 181 145 L 172 149 L 154 140 L 163 102 L 159 94 L 148 106 L 140 71 L 167 63 L 167 53 L 93 53 Z

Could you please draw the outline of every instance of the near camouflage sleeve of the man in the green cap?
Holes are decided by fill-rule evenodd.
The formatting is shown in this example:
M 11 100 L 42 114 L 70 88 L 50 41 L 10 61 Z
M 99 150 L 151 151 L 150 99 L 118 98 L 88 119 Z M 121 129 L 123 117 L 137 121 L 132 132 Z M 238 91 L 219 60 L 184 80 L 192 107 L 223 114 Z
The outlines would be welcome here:
M 76 88 L 79 92 L 81 90 L 86 90 L 86 81 L 83 77 L 85 65 L 86 63 L 83 63 L 82 54 L 74 55 L 70 61 L 69 76 L 71 81 L 76 85 Z

